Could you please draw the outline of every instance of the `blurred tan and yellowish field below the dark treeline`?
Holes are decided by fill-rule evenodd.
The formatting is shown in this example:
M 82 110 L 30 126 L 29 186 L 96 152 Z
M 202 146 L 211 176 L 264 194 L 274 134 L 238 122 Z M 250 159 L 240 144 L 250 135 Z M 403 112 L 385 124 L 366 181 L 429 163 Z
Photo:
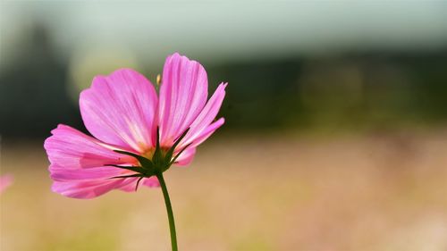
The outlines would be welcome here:
M 166 173 L 181 250 L 446 250 L 447 130 L 213 138 Z M 161 190 L 54 194 L 40 144 L 3 146 L 1 250 L 169 250 Z

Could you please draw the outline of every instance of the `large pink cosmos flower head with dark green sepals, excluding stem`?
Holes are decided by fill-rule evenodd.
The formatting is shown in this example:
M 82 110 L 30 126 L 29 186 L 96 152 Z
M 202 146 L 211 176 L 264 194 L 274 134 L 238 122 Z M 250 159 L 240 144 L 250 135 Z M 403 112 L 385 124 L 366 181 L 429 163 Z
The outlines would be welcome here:
M 207 100 L 207 72 L 177 53 L 166 58 L 159 96 L 131 69 L 95 77 L 80 94 L 82 120 L 93 137 L 60 124 L 46 138 L 53 191 L 93 198 L 112 189 L 134 191 L 140 180 L 158 187 L 156 172 L 188 165 L 196 147 L 223 125 L 215 116 L 226 85 Z

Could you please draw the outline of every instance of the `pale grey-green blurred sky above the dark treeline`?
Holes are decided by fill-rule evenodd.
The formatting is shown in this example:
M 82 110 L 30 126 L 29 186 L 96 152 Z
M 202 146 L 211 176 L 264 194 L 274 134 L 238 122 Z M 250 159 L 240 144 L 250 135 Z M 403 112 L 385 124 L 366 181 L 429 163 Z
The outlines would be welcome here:
M 2 1 L 2 56 L 40 20 L 60 54 L 131 50 L 146 63 L 173 51 L 212 62 L 447 44 L 446 1 Z

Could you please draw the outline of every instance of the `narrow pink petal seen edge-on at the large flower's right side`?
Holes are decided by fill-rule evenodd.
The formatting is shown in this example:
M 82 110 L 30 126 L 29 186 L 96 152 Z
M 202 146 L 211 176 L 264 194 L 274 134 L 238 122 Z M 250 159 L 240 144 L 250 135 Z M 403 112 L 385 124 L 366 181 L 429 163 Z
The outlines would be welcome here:
M 225 97 L 226 86 L 226 83 L 222 83 L 219 85 L 219 87 L 217 87 L 215 93 L 207 102 L 207 105 L 205 105 L 201 113 L 198 114 L 196 120 L 193 121 L 190 125 L 190 131 L 188 131 L 185 138 L 181 140 L 179 149 L 190 144 L 191 142 L 193 142 L 195 146 L 198 146 L 198 144 L 202 143 L 207 137 L 209 137 L 209 135 L 211 135 L 215 129 L 223 124 L 223 121 L 219 121 L 218 123 L 215 123 L 214 130 L 213 127 L 208 128 L 211 125 L 212 121 L 215 120 L 215 116 L 219 112 L 219 109 L 223 102 L 223 97 Z M 211 134 L 207 135 L 210 131 Z M 204 138 L 204 135 L 207 135 L 207 137 Z M 199 143 L 195 142 L 196 140 Z

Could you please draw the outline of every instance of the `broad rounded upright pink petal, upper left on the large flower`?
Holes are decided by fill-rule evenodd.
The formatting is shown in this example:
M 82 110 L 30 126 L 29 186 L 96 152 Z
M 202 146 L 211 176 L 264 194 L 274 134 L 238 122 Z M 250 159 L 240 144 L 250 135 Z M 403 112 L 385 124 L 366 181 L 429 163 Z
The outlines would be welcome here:
M 86 128 L 106 143 L 139 153 L 155 143 L 156 90 L 143 75 L 130 69 L 97 76 L 80 94 Z

